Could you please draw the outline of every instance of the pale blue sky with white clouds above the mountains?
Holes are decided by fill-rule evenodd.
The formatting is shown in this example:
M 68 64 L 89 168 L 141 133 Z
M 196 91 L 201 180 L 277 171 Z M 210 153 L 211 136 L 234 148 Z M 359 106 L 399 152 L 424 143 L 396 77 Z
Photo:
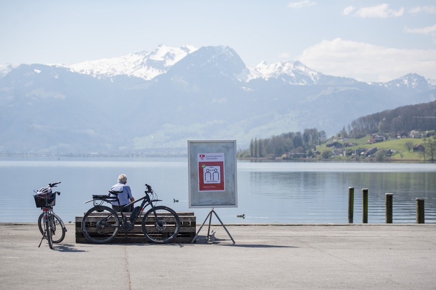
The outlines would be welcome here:
M 249 66 L 436 80 L 436 0 L 0 0 L 0 65 L 226 45 Z

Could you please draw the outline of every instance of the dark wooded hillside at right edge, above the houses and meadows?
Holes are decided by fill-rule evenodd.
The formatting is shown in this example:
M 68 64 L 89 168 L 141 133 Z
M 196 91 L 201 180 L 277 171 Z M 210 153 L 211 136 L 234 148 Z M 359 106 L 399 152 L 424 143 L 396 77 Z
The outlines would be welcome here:
M 401 132 L 409 133 L 412 130 L 427 131 L 435 129 L 436 101 L 433 101 L 360 117 L 348 125 L 347 135 L 351 138 L 361 138 L 367 134 L 375 133 L 398 134 Z

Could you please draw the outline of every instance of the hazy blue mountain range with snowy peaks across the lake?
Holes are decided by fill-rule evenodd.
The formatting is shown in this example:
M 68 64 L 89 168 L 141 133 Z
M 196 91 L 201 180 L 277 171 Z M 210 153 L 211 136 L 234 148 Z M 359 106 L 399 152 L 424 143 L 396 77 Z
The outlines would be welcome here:
M 186 153 L 187 140 L 251 139 L 436 100 L 434 81 L 324 75 L 301 62 L 246 65 L 228 46 L 158 46 L 73 65 L 0 65 L 3 154 Z

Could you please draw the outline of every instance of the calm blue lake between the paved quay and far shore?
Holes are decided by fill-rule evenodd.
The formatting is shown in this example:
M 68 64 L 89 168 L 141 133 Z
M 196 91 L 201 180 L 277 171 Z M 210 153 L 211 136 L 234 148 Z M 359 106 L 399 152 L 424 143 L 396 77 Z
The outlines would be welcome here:
M 106 194 L 120 173 L 133 196 L 145 183 L 160 205 L 194 211 L 201 224 L 210 208 L 189 208 L 187 158 L 0 157 L 0 222 L 36 222 L 33 189 L 61 181 L 54 210 L 74 221 Z M 385 222 L 385 193 L 394 194 L 394 223 L 416 222 L 416 198 L 425 198 L 426 223 L 436 223 L 436 165 L 421 163 L 237 162 L 238 207 L 215 208 L 230 223 L 347 223 L 348 188 L 355 188 L 354 223 L 362 223 L 362 189 L 369 192 L 369 223 Z M 176 199 L 178 202 L 173 202 Z M 245 218 L 237 217 L 245 215 Z M 212 223 L 216 223 L 213 216 Z

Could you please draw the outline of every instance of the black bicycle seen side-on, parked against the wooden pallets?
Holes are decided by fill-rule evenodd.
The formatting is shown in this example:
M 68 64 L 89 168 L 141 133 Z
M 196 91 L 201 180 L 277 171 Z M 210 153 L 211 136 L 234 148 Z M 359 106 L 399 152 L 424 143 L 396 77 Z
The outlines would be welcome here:
M 115 190 L 109 190 L 107 195 L 92 195 L 91 200 L 85 201 L 84 203 L 92 201 L 94 205 L 85 213 L 82 219 L 81 228 L 85 238 L 92 243 L 104 244 L 114 239 L 119 230 L 125 231 L 127 237 L 127 232 L 134 227 L 135 221 L 140 217 L 145 207 L 150 205 L 151 208 L 144 214 L 141 223 L 145 237 L 156 244 L 165 244 L 172 241 L 180 230 L 179 216 L 167 206 L 154 205 L 154 202 L 162 200 L 157 199 L 157 194 L 150 185 L 145 184 L 145 186 L 147 190 L 144 191 L 145 195 L 143 197 L 124 206 L 120 205 L 118 199 L 118 194 L 122 191 Z M 134 207 L 129 220 L 127 220 L 123 209 L 141 200 L 141 205 Z M 116 211 L 102 205 L 103 202 L 111 203 L 114 201 L 118 202 L 119 206 Z M 120 217 L 118 217 L 118 214 Z

